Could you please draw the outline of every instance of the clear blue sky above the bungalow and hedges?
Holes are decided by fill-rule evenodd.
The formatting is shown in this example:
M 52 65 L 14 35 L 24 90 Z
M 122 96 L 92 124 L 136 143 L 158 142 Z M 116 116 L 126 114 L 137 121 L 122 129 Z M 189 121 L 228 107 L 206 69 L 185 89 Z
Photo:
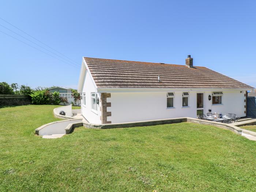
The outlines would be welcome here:
M 48 53 L 0 33 L 0 82 L 76 88 L 83 56 L 183 65 L 191 54 L 194 65 L 256 87 L 254 0 L 0 4 L 0 18 L 59 52 L 0 19 L 0 31 Z

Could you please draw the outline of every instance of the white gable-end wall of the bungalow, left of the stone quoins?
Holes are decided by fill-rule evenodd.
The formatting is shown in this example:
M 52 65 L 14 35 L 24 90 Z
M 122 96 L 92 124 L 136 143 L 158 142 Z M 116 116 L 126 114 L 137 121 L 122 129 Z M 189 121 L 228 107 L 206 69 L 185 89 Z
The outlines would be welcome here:
M 81 100 L 82 115 L 90 123 L 101 124 L 101 112 L 99 110 L 100 105 L 97 105 L 97 111 L 91 109 L 91 93 L 97 93 L 97 87 L 95 86 L 94 81 L 91 78 L 91 75 L 87 71 L 86 75 L 84 76 L 82 93 L 86 94 L 86 105 L 83 105 L 83 100 Z M 98 94 L 98 98 L 100 101 L 100 94 Z

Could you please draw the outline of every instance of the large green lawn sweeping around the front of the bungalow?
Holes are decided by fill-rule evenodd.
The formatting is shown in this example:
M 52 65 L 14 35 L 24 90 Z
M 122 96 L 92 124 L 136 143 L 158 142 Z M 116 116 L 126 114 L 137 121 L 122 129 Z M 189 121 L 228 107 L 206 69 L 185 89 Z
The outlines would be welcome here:
M 35 136 L 55 107 L 0 109 L 0 191 L 256 191 L 255 141 L 192 123 Z

